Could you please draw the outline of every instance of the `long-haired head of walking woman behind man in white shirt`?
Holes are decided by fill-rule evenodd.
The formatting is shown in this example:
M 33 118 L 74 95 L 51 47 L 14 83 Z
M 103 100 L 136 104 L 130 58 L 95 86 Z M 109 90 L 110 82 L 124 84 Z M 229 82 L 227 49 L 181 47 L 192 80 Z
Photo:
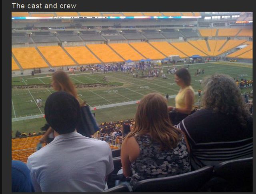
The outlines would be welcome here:
M 52 87 L 56 91 L 65 91 L 77 96 L 76 88 L 66 72 L 59 70 L 52 74 Z

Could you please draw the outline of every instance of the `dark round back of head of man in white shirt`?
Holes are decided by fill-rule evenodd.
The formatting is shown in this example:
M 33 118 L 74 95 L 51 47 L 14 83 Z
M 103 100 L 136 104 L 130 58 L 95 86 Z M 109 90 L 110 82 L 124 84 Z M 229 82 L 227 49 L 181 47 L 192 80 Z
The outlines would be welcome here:
M 44 114 L 48 124 L 58 133 L 74 132 L 80 118 L 78 100 L 67 92 L 54 92 L 48 96 Z

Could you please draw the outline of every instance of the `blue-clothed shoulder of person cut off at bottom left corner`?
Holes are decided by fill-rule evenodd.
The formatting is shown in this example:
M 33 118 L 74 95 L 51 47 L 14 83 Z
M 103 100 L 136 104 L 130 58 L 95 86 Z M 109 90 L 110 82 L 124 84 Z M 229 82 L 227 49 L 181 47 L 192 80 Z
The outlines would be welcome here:
M 12 160 L 12 192 L 34 192 L 30 171 L 18 160 Z

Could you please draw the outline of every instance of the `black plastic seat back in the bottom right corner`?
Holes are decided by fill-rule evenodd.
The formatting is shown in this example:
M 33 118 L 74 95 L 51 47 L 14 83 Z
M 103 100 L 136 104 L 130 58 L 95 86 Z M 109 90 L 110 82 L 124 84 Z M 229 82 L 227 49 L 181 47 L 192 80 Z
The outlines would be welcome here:
M 252 192 L 252 157 L 221 162 L 204 186 L 209 192 Z

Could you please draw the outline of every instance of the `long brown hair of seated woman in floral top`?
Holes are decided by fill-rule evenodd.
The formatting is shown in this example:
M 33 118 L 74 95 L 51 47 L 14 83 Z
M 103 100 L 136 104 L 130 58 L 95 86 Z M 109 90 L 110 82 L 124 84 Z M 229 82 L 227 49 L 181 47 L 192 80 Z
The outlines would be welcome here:
M 144 96 L 138 105 L 134 129 L 126 136 L 150 134 L 160 143 L 161 150 L 175 148 L 181 138 L 181 131 L 175 128 L 168 116 L 167 101 L 158 93 Z

